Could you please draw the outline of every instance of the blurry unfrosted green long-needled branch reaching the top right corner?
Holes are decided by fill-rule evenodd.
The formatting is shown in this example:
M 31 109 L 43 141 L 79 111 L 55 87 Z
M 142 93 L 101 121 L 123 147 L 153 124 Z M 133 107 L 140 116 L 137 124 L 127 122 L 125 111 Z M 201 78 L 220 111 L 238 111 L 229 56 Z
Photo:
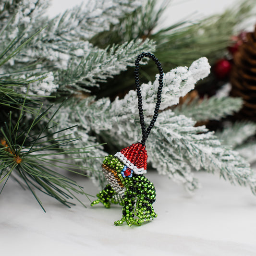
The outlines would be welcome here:
M 166 67 L 172 68 L 188 65 L 200 56 L 205 56 L 210 65 L 213 65 L 215 60 L 226 52 L 231 43 L 231 36 L 237 33 L 237 24 L 254 15 L 254 6 L 254 0 L 243 0 L 222 14 L 212 15 L 198 23 L 175 31 L 158 31 L 151 37 L 158 45 L 158 59 L 163 60 L 162 63 Z

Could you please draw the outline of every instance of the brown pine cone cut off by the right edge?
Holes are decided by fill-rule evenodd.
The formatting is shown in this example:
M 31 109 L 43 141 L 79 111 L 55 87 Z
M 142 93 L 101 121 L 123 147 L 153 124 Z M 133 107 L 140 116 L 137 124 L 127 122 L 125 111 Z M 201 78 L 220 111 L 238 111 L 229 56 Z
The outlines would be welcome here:
M 256 29 L 246 34 L 244 43 L 234 54 L 230 82 L 231 96 L 244 99 L 237 118 L 256 121 Z

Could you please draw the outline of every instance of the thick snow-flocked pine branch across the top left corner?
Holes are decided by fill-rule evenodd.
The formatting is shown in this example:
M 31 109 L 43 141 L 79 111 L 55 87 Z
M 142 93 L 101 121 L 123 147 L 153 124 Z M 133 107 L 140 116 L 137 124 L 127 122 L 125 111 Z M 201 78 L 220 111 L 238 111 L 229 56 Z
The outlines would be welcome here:
M 132 12 L 137 6 L 135 0 L 90 0 L 49 20 L 42 16 L 48 1 L 37 0 L 33 4 L 19 0 L 13 5 L 8 4 L 8 7 L 3 7 L 5 11 L 0 13 L 0 20 L 4 22 L 12 19 L 2 33 L 2 48 L 6 47 L 5 42 L 10 38 L 34 34 L 45 25 L 47 28 L 23 49 L 22 54 L 12 59 L 10 65 L 5 67 L 5 73 L 12 72 L 14 63 L 17 69 L 25 63 L 36 62 L 49 67 L 48 72 L 66 69 L 70 61 L 79 63 L 81 57 L 87 56 L 93 49 L 93 45 L 87 41 L 90 37 L 116 24 L 119 17 Z

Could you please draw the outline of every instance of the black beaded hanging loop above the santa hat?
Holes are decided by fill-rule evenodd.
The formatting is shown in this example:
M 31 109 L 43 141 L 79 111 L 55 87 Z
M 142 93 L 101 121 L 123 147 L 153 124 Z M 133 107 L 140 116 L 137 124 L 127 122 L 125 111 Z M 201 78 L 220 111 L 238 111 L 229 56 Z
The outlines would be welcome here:
M 142 96 L 141 96 L 141 90 L 140 90 L 140 84 L 139 84 L 139 62 L 141 59 L 144 57 L 149 57 L 153 61 L 155 61 L 156 65 L 158 66 L 159 70 L 159 86 L 158 86 L 158 94 L 157 94 L 157 103 L 154 111 L 154 116 L 153 119 L 151 120 L 149 126 L 146 129 L 146 125 L 144 122 L 144 114 L 143 114 L 143 108 L 142 108 Z M 156 56 L 150 52 L 143 52 L 142 54 L 139 54 L 137 59 L 135 60 L 135 71 L 134 71 L 134 76 L 135 76 L 135 86 L 136 86 L 136 91 L 137 91 L 137 96 L 138 96 L 138 110 L 139 110 L 139 116 L 140 116 L 140 124 L 141 124 L 141 131 L 142 131 L 142 141 L 141 144 L 145 145 L 146 139 L 148 137 L 148 134 L 150 133 L 152 127 L 154 126 L 154 123 L 157 120 L 158 117 L 158 110 L 160 107 L 161 103 L 161 92 L 162 92 L 162 87 L 163 87 L 163 69 L 161 66 L 161 63 L 158 61 Z

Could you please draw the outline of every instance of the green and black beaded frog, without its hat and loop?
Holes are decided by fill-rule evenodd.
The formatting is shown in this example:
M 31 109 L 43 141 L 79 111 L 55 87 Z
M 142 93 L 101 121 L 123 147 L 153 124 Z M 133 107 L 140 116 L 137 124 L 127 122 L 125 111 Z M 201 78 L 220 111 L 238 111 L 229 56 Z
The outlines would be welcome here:
M 98 199 L 92 202 L 91 206 L 101 202 L 104 207 L 110 208 L 110 203 L 119 203 L 122 206 L 122 219 L 114 224 L 121 225 L 126 221 L 128 226 L 141 225 L 157 217 L 152 207 L 156 200 L 156 190 L 144 175 L 133 173 L 131 176 L 131 171 L 125 173 L 123 170 L 128 170 L 125 166 L 117 157 L 105 157 L 102 171 L 110 184 L 99 192 Z M 135 216 L 137 218 L 134 219 Z

